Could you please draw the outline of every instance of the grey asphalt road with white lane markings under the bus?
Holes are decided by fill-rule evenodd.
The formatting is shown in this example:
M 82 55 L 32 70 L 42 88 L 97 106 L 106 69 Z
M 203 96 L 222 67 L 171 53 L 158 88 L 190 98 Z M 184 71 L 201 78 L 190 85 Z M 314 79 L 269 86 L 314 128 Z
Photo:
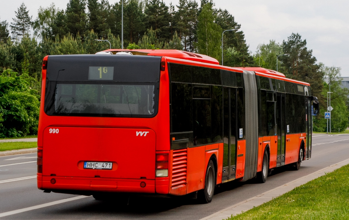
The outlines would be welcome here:
M 188 198 L 130 197 L 128 205 L 101 202 L 86 197 L 71 202 L 38 208 L 0 219 L 201 219 L 223 208 L 349 158 L 349 135 L 313 135 L 312 158 L 300 170 L 275 169 L 264 184 L 232 181 L 215 191 L 210 204 L 197 204 Z M 347 140 L 345 140 L 347 139 Z M 10 160 L 9 160 L 10 159 Z M 35 205 L 76 197 L 44 193 L 36 187 L 36 154 L 0 157 L 0 215 Z M 20 163 L 20 164 L 17 164 Z M 11 165 L 16 164 L 16 165 Z M 6 166 L 4 166 L 6 165 Z M 8 180 L 26 177 L 8 182 Z

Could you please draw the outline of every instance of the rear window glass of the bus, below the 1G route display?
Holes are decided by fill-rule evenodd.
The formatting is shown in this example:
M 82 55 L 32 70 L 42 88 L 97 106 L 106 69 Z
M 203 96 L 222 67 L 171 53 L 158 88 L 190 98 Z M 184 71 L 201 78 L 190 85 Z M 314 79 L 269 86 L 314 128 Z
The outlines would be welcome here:
M 45 98 L 48 115 L 153 117 L 155 84 L 50 82 Z

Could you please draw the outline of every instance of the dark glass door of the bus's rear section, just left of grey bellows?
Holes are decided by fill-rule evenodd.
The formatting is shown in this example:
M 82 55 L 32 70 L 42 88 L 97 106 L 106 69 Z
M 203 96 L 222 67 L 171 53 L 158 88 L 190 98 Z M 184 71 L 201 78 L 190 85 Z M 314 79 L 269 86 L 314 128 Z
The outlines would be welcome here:
M 236 89 L 223 88 L 223 174 L 222 181 L 236 173 Z

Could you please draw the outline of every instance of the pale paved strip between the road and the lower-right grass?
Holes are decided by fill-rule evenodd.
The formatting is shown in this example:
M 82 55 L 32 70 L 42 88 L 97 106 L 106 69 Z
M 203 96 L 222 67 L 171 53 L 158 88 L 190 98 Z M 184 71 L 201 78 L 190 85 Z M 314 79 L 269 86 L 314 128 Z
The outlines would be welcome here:
M 272 200 L 273 198 L 276 198 L 278 196 L 281 196 L 282 194 L 285 194 L 288 191 L 291 191 L 292 189 L 300 185 L 303 185 L 311 180 L 314 180 L 320 176 L 325 175 L 325 172 L 330 173 L 335 169 L 338 169 L 347 164 L 349 164 L 349 159 L 339 162 L 337 164 L 333 164 L 331 166 L 325 167 L 309 175 L 300 177 L 297 180 L 281 185 L 280 187 L 276 187 L 275 189 L 264 192 L 258 196 L 246 199 L 245 201 L 232 205 L 228 208 L 224 208 L 223 210 L 218 211 L 214 214 L 211 214 L 210 216 L 202 218 L 200 220 L 222 220 L 222 219 L 229 218 L 231 215 L 237 215 L 242 212 L 246 212 L 251 208 L 253 208 L 254 206 L 257 207 L 263 203 L 266 203 Z

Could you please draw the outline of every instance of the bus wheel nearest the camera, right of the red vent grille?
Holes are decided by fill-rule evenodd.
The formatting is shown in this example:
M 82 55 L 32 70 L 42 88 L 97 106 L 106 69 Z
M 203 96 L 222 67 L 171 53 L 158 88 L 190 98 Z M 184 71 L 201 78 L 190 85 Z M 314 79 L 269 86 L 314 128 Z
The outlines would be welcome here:
M 210 203 L 215 192 L 216 172 L 213 161 L 210 160 L 206 169 L 205 188 L 198 192 L 198 199 L 201 203 Z

